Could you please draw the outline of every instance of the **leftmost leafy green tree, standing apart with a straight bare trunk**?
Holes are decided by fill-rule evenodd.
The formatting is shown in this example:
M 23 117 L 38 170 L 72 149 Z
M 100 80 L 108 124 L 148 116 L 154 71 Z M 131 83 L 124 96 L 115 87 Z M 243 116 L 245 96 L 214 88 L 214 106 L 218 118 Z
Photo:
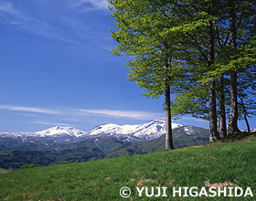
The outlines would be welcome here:
M 176 17 L 182 5 L 176 1 L 163 4 L 111 0 L 110 3 L 113 5 L 112 18 L 118 27 L 112 30 L 112 37 L 119 43 L 112 53 L 133 57 L 126 64 L 131 69 L 128 79 L 145 89 L 145 96 L 158 98 L 165 95 L 165 150 L 174 149 L 170 94 L 179 89 L 186 72 L 181 59 L 182 36 L 178 29 L 181 19 Z

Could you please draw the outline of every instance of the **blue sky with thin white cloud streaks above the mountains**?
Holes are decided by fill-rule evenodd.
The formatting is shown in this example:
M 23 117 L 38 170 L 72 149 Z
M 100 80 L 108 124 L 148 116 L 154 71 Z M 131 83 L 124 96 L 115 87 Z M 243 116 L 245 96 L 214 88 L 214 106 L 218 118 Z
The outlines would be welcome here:
M 106 0 L 0 0 L 0 132 L 165 120 L 126 79 Z M 254 121 L 253 121 L 254 120 Z M 189 116 L 176 121 L 208 128 Z M 255 117 L 250 120 L 256 127 Z M 240 123 L 240 129 L 245 129 Z

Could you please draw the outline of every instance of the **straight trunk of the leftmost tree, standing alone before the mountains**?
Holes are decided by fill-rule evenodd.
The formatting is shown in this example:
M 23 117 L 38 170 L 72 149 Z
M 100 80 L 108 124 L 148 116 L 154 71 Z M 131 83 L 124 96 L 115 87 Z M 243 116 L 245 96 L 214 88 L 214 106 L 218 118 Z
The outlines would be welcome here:
M 171 64 L 170 64 L 171 65 Z M 167 74 L 168 62 L 165 58 L 165 150 L 175 149 L 173 144 L 170 77 Z

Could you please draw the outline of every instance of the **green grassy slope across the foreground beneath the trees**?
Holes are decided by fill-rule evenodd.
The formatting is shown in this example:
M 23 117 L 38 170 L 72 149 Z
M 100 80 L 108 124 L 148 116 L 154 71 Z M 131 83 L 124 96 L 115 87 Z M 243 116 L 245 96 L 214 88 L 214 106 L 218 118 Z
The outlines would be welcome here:
M 172 186 L 202 187 L 205 182 L 250 186 L 256 196 L 255 164 L 256 133 L 240 142 L 10 172 L 0 175 L 0 200 L 124 200 L 119 195 L 123 186 L 132 189 L 133 200 L 154 200 L 136 193 L 136 186 L 145 185 L 168 187 L 170 200 L 212 200 L 205 196 L 181 199 L 169 192 Z M 155 200 L 161 199 L 167 200 Z

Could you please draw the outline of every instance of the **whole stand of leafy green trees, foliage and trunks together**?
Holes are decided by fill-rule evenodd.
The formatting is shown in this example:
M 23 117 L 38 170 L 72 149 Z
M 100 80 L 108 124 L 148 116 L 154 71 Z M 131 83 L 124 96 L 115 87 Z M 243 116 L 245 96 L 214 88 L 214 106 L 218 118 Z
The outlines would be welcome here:
M 192 114 L 209 121 L 213 142 L 227 135 L 227 111 L 229 134 L 238 131 L 241 112 L 245 119 L 254 113 L 249 106 L 255 105 L 254 1 L 110 3 L 116 26 L 111 35 L 118 42 L 112 53 L 132 56 L 126 64 L 131 69 L 128 79 L 136 81 L 145 96 L 165 95 L 166 130 L 171 109 L 177 117 Z M 171 93 L 176 95 L 172 101 Z M 171 130 L 166 135 L 171 136 Z M 173 148 L 172 143 L 167 146 Z

